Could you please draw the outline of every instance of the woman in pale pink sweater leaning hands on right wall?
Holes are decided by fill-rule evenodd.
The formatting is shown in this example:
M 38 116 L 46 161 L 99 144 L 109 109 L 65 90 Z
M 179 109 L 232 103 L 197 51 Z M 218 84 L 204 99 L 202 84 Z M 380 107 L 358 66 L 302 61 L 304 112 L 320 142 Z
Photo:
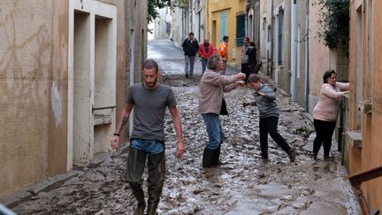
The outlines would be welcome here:
M 316 138 L 313 142 L 313 158 L 317 159 L 318 151 L 324 142 L 324 158 L 329 158 L 332 147 L 332 134 L 340 111 L 341 98 L 348 93 L 349 83 L 337 82 L 334 70 L 324 73 L 324 84 L 321 86 L 318 103 L 313 109 L 313 120 Z

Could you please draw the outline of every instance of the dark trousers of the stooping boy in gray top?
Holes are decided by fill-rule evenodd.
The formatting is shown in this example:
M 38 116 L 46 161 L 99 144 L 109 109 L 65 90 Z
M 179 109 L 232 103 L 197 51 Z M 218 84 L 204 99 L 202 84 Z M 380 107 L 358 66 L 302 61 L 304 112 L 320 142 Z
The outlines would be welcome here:
M 262 157 L 268 158 L 268 134 L 276 142 L 282 150 L 288 151 L 290 147 L 287 141 L 279 134 L 277 127 L 279 123 L 278 117 L 266 117 L 260 118 L 260 148 L 262 151 Z

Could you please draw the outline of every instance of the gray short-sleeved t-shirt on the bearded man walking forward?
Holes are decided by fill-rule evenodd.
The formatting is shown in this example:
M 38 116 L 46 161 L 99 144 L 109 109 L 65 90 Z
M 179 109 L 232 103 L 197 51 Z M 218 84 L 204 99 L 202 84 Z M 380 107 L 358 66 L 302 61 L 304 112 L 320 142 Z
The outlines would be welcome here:
M 131 139 L 164 141 L 164 114 L 167 107 L 176 106 L 172 88 L 159 84 L 146 89 L 143 83 L 129 88 L 126 103 L 134 104 L 134 128 Z

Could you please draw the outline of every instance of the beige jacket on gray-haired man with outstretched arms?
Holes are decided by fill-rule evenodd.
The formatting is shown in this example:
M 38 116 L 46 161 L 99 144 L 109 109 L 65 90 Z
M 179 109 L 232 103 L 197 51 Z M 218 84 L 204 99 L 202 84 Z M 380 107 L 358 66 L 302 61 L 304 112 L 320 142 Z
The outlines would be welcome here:
M 234 82 L 240 81 L 234 75 L 226 76 L 213 70 L 206 70 L 199 84 L 199 113 L 220 113 L 224 92 L 236 88 Z

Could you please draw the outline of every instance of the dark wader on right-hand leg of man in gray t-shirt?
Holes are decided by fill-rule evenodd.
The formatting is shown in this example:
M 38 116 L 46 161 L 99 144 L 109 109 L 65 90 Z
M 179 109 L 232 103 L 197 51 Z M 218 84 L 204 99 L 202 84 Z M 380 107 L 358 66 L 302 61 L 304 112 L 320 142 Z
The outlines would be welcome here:
M 149 173 L 149 199 L 148 199 L 148 215 L 154 215 L 157 212 L 157 205 L 160 196 L 162 195 L 162 188 L 164 185 L 164 152 L 148 156 L 148 173 Z

